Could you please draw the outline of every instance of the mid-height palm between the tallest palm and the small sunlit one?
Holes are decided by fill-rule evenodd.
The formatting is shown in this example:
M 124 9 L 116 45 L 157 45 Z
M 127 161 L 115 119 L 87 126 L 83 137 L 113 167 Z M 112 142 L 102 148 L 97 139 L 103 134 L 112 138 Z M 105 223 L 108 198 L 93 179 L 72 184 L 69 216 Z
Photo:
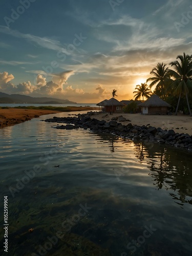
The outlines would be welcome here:
M 170 75 L 169 75 L 169 69 L 165 68 L 166 64 L 158 63 L 155 68 L 152 69 L 150 72 L 151 75 L 154 75 L 154 77 L 150 77 L 146 80 L 152 81 L 150 83 L 150 89 L 157 83 L 156 89 L 161 90 L 162 99 L 165 99 L 165 87 L 168 82 L 170 82 Z

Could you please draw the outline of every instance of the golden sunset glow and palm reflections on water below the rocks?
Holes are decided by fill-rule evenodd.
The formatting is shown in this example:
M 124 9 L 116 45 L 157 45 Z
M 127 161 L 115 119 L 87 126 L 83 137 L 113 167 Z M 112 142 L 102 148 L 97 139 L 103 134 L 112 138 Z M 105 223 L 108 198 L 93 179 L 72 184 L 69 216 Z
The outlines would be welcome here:
M 98 134 L 97 136 L 109 144 L 110 151 L 113 153 L 120 150 L 120 143 L 130 146 L 130 140 L 110 134 Z M 174 202 L 181 207 L 184 203 L 191 204 L 192 153 L 170 146 L 165 147 L 159 143 L 153 143 L 153 147 L 151 143 L 148 145 L 145 142 L 133 143 L 134 156 L 151 171 L 148 175 L 153 178 L 153 185 L 158 190 L 166 189 Z

